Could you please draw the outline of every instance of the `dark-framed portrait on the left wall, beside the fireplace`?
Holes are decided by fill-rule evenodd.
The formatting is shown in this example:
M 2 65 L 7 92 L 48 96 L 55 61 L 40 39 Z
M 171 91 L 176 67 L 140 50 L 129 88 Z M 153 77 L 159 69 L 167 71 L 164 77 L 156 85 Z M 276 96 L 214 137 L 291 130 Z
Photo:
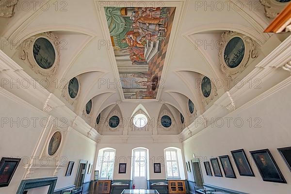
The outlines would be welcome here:
M 0 187 L 7 187 L 9 185 L 19 162 L 19 158 L 1 158 Z

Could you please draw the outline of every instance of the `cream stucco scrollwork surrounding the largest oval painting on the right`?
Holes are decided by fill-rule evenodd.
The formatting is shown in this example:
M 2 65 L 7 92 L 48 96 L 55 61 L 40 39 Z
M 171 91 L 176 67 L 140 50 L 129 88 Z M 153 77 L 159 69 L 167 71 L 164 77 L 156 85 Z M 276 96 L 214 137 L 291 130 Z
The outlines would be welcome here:
M 236 67 L 231 68 L 226 64 L 226 61 L 225 61 L 225 49 L 226 49 L 227 43 L 235 37 L 239 37 L 242 39 L 244 43 L 244 55 L 240 64 L 237 65 Z M 220 48 L 219 48 L 218 56 L 219 56 L 219 61 L 220 61 L 220 68 L 221 68 L 221 71 L 224 74 L 226 74 L 226 76 L 230 80 L 233 80 L 234 78 L 236 78 L 247 67 L 250 59 L 257 58 L 258 49 L 259 49 L 258 43 L 255 40 L 253 40 L 249 36 L 246 36 L 242 33 L 233 32 L 233 31 L 223 32 L 221 35 L 221 42 L 219 43 L 219 45 L 220 45 Z

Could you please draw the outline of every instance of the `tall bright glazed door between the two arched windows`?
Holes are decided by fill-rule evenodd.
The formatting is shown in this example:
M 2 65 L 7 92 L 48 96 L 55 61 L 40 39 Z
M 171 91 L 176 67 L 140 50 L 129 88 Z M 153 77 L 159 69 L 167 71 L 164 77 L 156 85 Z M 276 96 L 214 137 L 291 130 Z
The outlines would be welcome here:
M 133 154 L 132 184 L 135 189 L 146 189 L 146 149 L 135 149 Z

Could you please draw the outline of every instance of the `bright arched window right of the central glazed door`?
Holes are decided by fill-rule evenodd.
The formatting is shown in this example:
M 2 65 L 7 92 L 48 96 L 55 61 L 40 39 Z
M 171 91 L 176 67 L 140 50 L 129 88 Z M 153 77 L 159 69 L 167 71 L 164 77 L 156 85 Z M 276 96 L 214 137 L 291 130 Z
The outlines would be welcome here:
M 178 155 L 176 149 L 165 149 L 166 177 L 180 179 Z

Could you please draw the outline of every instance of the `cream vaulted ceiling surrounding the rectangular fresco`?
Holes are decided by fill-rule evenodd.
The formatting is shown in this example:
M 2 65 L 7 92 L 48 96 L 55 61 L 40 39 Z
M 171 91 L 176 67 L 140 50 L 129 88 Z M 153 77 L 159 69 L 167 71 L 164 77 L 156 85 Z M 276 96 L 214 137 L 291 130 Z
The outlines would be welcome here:
M 154 99 L 125 99 L 104 7 L 152 7 L 153 4 L 176 7 L 159 90 Z M 221 87 L 216 84 L 217 80 L 229 78 L 221 70 L 219 59 L 222 34 L 227 31 L 240 33 L 254 40 L 255 47 L 261 48 L 270 39 L 270 34 L 262 32 L 272 21 L 259 0 L 40 0 L 36 3 L 19 0 L 14 12 L 12 17 L 0 17 L 1 39 L 8 42 L 1 49 L 71 110 L 83 115 L 92 127 L 99 113 L 103 112 L 105 116 L 113 110 L 126 118 L 138 110 L 158 118 L 163 110 L 167 110 L 176 122 L 182 113 L 189 125 L 195 115 L 189 114 L 188 99 L 194 103 L 196 115 L 199 115 L 235 85 L 233 80 Z M 49 75 L 35 71 L 23 59 L 26 41 L 44 35 L 43 32 L 49 32 L 59 47 L 59 64 Z M 259 61 L 256 58 L 266 54 L 259 50 L 250 60 L 251 65 L 238 77 L 250 72 Z M 212 83 L 211 99 L 204 99 L 197 83 L 204 76 Z M 72 100 L 64 90 L 74 77 L 80 86 L 77 98 Z M 83 112 L 90 99 L 92 113 L 86 116 Z M 185 125 L 179 126 L 179 130 L 183 127 Z

